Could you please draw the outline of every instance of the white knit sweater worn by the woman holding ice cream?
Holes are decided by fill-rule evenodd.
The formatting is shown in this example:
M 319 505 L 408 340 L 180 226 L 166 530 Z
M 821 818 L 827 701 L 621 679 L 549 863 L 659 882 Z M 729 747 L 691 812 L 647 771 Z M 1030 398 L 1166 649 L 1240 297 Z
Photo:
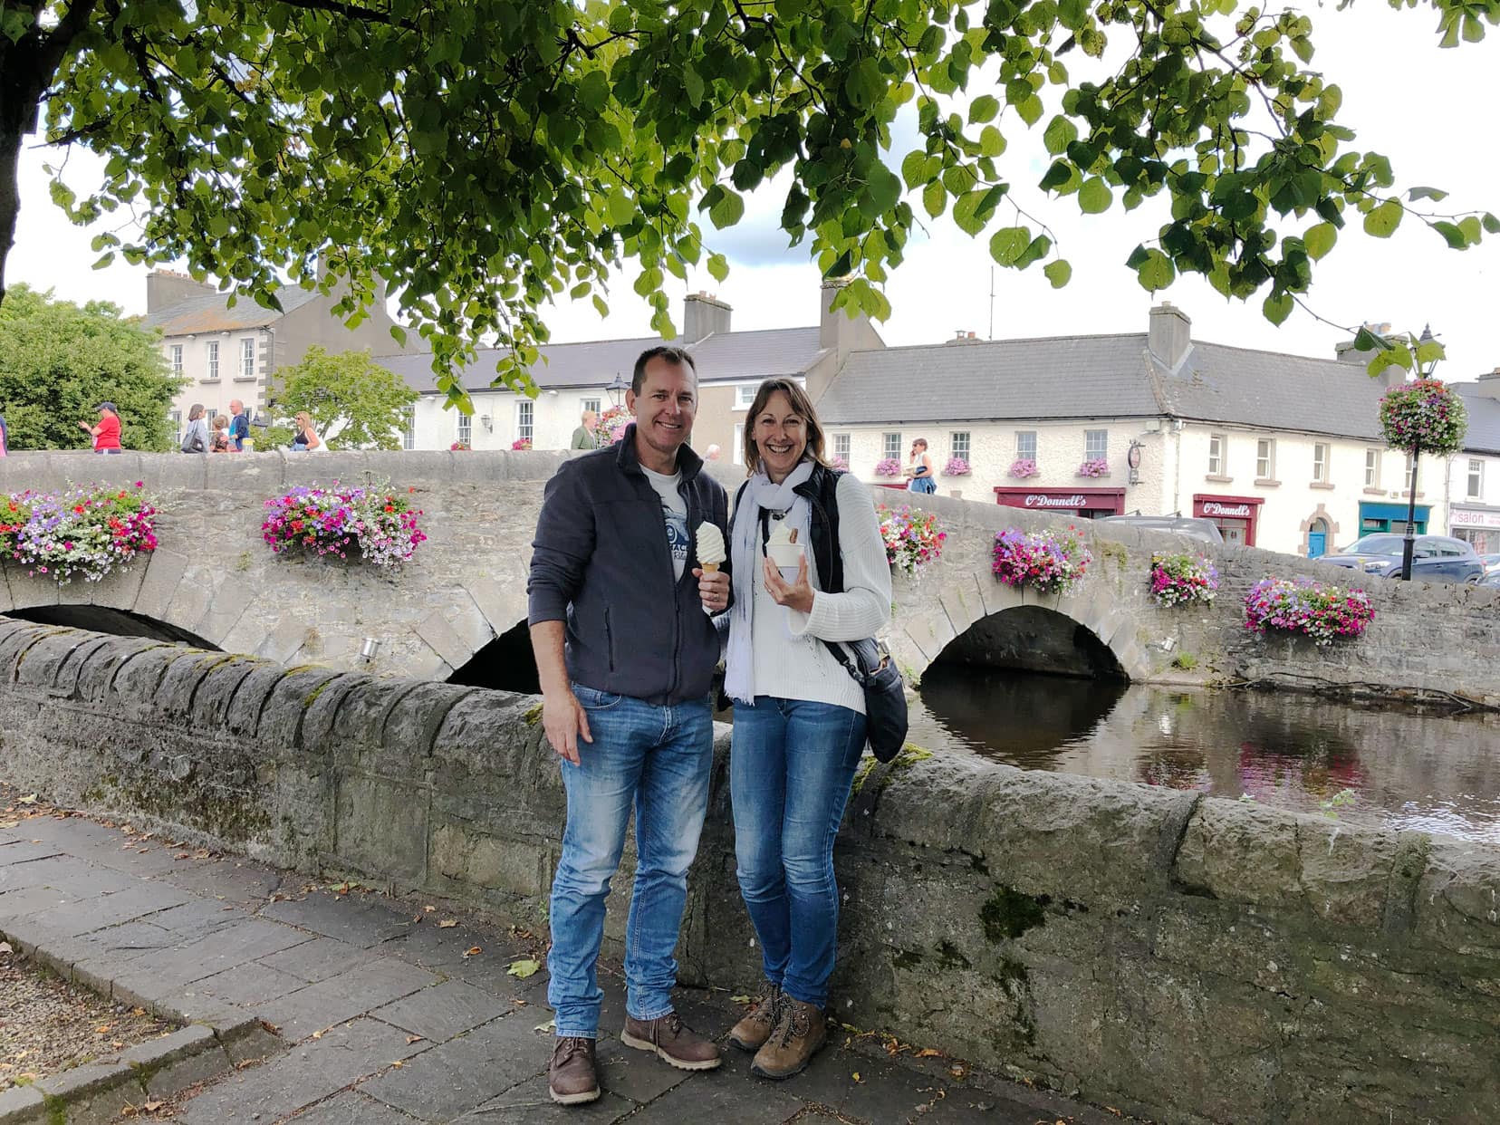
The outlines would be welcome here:
M 885 626 L 891 616 L 891 564 L 870 489 L 846 472 L 838 477 L 836 495 L 844 592 L 825 594 L 818 588 L 818 567 L 808 554 L 807 580 L 816 591 L 812 612 L 778 606 L 765 588 L 765 572 L 756 558 L 750 627 L 754 693 L 836 704 L 864 714 L 864 690 L 822 640 L 861 640 Z

